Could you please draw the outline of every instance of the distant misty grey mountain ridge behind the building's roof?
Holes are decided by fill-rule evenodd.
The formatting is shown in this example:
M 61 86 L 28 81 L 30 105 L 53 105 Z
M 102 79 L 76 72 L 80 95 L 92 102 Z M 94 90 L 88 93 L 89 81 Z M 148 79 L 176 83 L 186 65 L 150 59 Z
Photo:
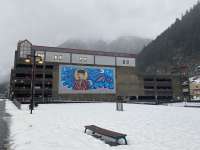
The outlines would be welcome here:
M 139 53 L 151 40 L 136 36 L 122 36 L 113 41 L 105 40 L 67 40 L 60 47 Z

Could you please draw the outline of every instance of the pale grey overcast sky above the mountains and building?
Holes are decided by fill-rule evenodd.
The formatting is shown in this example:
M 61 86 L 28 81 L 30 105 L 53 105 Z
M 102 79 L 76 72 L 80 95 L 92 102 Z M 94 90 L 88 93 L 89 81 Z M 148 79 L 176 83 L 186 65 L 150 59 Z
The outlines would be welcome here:
M 18 40 L 56 46 L 67 39 L 155 38 L 197 0 L 1 0 L 0 82 Z

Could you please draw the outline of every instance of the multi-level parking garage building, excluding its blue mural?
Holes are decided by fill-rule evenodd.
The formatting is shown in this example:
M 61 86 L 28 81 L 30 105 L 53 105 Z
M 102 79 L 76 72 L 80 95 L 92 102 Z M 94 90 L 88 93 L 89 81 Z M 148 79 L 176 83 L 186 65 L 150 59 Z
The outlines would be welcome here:
M 39 56 L 41 59 L 35 66 L 31 60 L 34 52 L 35 57 Z M 27 40 L 20 41 L 15 51 L 14 67 L 11 72 L 10 97 L 23 103 L 29 102 L 32 85 L 35 100 L 43 103 L 56 100 L 115 101 L 117 96 L 132 100 L 171 100 L 173 97 L 178 97 L 180 89 L 177 80 L 168 75 L 138 73 L 135 59 L 134 54 L 37 46 Z M 79 68 L 114 68 L 115 92 L 112 94 L 104 90 L 96 93 L 59 92 L 61 65 Z M 70 74 L 70 78 L 75 79 L 74 74 Z

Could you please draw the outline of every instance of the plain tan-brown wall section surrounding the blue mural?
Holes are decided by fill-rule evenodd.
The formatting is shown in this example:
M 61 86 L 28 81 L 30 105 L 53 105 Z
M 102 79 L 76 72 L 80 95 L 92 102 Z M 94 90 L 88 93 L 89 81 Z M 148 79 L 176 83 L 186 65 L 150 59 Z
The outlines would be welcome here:
M 99 65 L 97 67 L 102 67 Z M 144 95 L 143 78 L 139 77 L 135 68 L 116 68 L 116 93 L 115 94 L 59 94 L 59 64 L 54 66 L 53 96 L 68 100 L 116 100 L 117 95 L 139 96 Z

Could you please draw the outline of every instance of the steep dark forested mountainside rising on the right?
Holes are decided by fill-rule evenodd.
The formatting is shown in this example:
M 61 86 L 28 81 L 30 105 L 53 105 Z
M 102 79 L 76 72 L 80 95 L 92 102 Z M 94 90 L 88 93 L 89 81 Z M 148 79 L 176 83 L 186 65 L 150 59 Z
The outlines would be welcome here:
M 166 73 L 172 66 L 200 64 L 200 2 L 176 19 L 167 30 L 146 46 L 137 57 L 142 72 Z

